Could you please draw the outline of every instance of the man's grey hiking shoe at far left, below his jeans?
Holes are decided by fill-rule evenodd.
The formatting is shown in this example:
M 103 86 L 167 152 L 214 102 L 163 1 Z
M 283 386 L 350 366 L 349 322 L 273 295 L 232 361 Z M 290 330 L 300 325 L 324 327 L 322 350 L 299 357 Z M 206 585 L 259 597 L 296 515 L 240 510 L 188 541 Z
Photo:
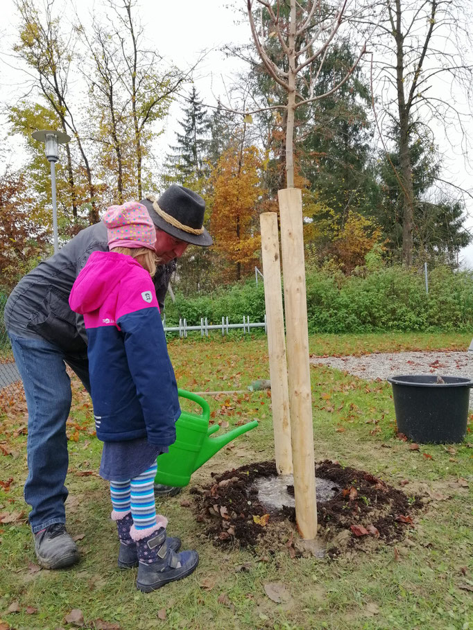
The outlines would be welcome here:
M 34 536 L 36 557 L 45 569 L 62 569 L 79 561 L 79 550 L 64 523 L 53 523 Z

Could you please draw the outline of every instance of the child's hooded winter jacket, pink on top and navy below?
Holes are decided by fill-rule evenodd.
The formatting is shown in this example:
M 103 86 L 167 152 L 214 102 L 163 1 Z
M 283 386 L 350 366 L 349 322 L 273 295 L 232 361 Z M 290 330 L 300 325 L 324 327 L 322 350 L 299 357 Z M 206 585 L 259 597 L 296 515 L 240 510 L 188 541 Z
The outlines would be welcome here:
M 171 446 L 180 415 L 155 288 L 131 256 L 93 252 L 69 305 L 84 315 L 98 439 Z

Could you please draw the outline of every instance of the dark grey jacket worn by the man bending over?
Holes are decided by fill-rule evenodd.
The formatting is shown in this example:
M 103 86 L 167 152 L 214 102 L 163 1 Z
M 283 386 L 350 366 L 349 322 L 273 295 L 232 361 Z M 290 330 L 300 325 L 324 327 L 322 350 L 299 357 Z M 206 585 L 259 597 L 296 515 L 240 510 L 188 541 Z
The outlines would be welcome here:
M 8 332 L 19 337 L 42 337 L 65 353 L 84 353 L 87 335 L 82 315 L 69 308 L 69 293 L 92 252 L 108 250 L 107 228 L 100 222 L 81 230 L 57 254 L 26 274 L 5 306 Z M 175 261 L 160 265 L 153 279 L 160 309 Z

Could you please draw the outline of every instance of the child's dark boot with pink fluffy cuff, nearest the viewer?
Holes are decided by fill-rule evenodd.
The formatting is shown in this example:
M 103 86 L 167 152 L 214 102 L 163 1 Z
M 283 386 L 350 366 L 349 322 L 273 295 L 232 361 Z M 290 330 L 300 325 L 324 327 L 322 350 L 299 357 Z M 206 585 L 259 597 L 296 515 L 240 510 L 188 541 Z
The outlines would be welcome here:
M 177 579 L 190 575 L 196 569 L 199 557 L 196 551 L 175 553 L 166 540 L 164 527 L 137 530 L 132 527 L 130 535 L 137 543 L 138 577 L 137 588 L 150 593 Z

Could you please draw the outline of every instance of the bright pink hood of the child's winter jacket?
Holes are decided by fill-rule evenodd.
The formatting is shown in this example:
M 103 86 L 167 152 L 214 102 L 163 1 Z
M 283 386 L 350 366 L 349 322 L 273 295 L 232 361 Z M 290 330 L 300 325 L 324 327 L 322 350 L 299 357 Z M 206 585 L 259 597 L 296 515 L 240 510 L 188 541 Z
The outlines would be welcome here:
M 71 309 L 84 315 L 100 308 L 119 281 L 143 268 L 131 256 L 118 252 L 93 252 L 69 295 Z

